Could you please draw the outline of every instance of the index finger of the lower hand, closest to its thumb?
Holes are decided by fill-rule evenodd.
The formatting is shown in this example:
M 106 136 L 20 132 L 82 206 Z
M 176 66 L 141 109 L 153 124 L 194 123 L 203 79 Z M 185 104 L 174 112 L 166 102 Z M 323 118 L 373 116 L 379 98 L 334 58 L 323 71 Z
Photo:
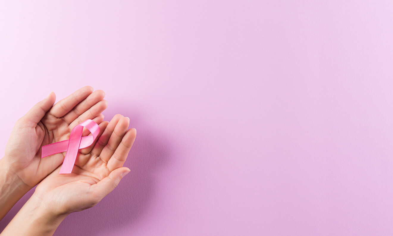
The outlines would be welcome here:
M 124 165 L 128 153 L 134 144 L 135 137 L 136 129 L 132 128 L 127 130 L 127 133 L 124 135 L 123 139 L 121 139 L 121 143 L 118 148 L 116 148 L 116 151 L 108 161 L 107 167 L 109 171 L 116 170 Z

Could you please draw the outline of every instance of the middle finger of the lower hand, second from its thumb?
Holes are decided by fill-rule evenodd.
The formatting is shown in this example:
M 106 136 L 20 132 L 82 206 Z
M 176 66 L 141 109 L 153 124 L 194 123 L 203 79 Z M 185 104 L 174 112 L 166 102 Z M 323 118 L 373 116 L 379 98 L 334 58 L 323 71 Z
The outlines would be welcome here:
M 112 135 L 110 135 L 107 145 L 105 145 L 99 155 L 105 163 L 108 163 L 110 157 L 115 153 L 116 148 L 118 148 L 121 143 L 121 139 L 123 139 L 125 132 L 127 132 L 129 124 L 130 119 L 128 117 L 122 117 L 119 120 L 119 123 L 116 125 Z

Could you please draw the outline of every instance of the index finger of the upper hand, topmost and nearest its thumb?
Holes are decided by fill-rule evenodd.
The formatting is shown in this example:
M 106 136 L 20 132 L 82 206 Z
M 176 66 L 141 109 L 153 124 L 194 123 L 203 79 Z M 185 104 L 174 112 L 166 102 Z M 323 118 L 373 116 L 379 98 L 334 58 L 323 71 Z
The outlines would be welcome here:
M 83 88 L 73 92 L 68 97 L 57 102 L 50 110 L 50 113 L 55 117 L 60 118 L 70 112 L 72 108 L 74 108 L 79 102 L 83 101 L 83 99 L 92 92 L 93 88 L 91 86 L 84 86 Z

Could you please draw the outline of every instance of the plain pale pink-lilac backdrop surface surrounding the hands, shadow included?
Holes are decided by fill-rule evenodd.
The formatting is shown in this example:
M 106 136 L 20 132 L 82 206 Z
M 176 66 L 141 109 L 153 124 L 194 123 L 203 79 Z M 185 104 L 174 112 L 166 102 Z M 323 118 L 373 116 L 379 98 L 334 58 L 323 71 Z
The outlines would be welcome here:
M 0 151 L 91 85 L 131 173 L 55 235 L 391 235 L 393 4 L 324 2 L 2 1 Z

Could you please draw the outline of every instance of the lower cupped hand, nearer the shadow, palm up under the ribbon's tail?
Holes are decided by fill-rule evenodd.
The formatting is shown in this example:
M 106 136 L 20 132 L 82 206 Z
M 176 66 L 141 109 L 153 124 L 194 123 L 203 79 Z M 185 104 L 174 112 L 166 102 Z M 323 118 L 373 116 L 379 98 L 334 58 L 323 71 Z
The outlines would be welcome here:
M 127 130 L 129 122 L 128 117 L 118 114 L 109 123 L 99 123 L 98 137 L 92 145 L 79 150 L 72 173 L 59 174 L 59 166 L 39 183 L 33 196 L 54 214 L 69 214 L 96 205 L 130 172 L 123 167 L 136 137 L 134 128 Z

